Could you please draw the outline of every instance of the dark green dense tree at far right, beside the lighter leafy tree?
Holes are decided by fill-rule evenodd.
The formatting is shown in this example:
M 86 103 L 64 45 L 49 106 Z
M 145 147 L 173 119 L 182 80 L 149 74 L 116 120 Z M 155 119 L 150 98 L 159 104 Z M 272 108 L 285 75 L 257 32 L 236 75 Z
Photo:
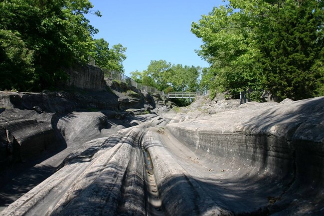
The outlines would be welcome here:
M 269 7 L 269 27 L 256 29 L 265 88 L 294 100 L 319 95 L 318 86 L 323 86 L 323 2 L 285 0 Z

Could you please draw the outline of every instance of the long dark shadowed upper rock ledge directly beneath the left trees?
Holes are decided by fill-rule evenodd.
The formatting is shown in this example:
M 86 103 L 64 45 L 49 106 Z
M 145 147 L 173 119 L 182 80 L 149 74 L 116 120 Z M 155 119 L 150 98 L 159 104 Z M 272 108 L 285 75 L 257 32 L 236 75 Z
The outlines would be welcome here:
M 62 91 L 43 93 L 0 92 L 0 107 L 66 113 L 74 110 L 118 110 L 116 95 L 108 91 Z M 36 109 L 36 107 L 38 107 Z

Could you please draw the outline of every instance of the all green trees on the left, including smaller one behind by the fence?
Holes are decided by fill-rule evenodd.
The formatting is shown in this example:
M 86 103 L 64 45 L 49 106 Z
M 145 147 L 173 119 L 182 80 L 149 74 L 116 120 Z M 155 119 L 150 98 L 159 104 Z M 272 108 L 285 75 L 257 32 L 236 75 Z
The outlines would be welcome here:
M 85 14 L 101 14 L 91 8 L 89 0 L 0 1 L 0 90 L 53 88 L 68 78 L 62 68 L 100 53 L 92 38 L 98 29 Z M 114 45 L 102 65 L 122 71 L 125 50 Z

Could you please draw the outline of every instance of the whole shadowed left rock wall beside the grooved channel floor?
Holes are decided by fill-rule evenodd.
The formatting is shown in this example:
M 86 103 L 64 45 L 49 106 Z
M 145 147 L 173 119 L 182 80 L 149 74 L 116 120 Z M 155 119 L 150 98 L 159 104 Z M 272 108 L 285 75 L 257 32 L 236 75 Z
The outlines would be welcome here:
M 0 92 L 0 206 L 12 203 L 52 175 L 84 143 L 148 120 L 146 115 L 123 112 L 127 105 L 106 90 L 109 87 L 101 70 L 87 66 L 70 72 L 78 76 L 72 74 L 73 88 L 65 91 Z M 88 81 L 92 84 L 82 84 Z M 155 106 L 152 96 L 135 91 L 140 97 L 128 106 L 143 106 L 139 113 L 148 113 L 153 109 L 148 101 Z

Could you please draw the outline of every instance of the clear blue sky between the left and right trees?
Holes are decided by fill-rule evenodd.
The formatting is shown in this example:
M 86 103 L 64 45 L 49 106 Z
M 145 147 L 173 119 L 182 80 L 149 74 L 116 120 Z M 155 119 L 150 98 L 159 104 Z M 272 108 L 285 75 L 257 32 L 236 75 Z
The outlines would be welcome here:
M 111 47 L 127 47 L 125 74 L 147 69 L 151 60 L 206 67 L 195 52 L 202 44 L 191 33 L 191 22 L 198 21 L 222 0 L 90 0 L 102 17 L 87 16 L 99 29 L 95 38 L 104 38 Z

